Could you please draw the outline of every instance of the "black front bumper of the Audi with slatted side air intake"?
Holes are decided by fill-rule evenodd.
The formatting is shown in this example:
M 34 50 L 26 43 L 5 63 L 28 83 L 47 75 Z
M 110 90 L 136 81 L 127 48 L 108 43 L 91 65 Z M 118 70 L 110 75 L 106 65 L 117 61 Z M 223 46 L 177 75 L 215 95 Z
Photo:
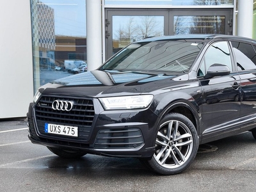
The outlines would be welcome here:
M 154 127 L 156 127 L 157 116 L 150 109 L 125 111 L 121 114 L 120 111 L 95 113 L 90 134 L 85 140 L 46 134 L 40 130 L 38 124 L 42 122 L 39 123 L 36 118 L 33 118 L 35 116 L 35 106 L 31 103 L 27 114 L 28 137 L 35 144 L 103 156 L 146 158 L 154 154 L 156 142 Z

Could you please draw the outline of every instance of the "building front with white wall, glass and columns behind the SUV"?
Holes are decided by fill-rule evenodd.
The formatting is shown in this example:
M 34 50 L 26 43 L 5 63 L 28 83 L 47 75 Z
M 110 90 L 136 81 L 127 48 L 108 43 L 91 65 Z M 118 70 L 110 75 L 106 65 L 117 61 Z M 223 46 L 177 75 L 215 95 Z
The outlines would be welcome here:
M 0 119 L 25 117 L 40 86 L 74 75 L 65 63 L 83 61 L 93 70 L 143 38 L 256 39 L 256 0 L 13 0 L 0 10 Z

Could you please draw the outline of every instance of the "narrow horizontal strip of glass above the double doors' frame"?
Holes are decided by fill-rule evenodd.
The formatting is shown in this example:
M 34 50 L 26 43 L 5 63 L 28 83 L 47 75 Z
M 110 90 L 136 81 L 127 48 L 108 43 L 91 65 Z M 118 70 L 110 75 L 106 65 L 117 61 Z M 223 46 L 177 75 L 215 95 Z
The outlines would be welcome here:
M 233 5 L 233 0 L 105 0 L 108 5 L 171 5 L 171 6 L 205 6 Z

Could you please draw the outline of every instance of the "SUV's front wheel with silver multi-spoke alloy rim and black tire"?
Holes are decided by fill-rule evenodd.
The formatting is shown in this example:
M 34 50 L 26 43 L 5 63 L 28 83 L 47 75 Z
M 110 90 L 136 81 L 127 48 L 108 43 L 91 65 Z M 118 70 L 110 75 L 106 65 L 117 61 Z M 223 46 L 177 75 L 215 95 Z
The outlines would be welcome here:
M 154 155 L 143 161 L 156 173 L 174 175 L 193 162 L 198 145 L 193 123 L 184 115 L 170 113 L 159 123 Z

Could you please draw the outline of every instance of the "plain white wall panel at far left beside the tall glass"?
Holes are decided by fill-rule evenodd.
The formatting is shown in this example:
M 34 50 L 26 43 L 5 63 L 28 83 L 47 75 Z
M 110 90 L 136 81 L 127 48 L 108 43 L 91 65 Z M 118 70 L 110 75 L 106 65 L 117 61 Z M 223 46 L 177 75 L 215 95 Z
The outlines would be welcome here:
M 23 117 L 33 101 L 30 1 L 1 1 L 0 28 L 0 118 Z

